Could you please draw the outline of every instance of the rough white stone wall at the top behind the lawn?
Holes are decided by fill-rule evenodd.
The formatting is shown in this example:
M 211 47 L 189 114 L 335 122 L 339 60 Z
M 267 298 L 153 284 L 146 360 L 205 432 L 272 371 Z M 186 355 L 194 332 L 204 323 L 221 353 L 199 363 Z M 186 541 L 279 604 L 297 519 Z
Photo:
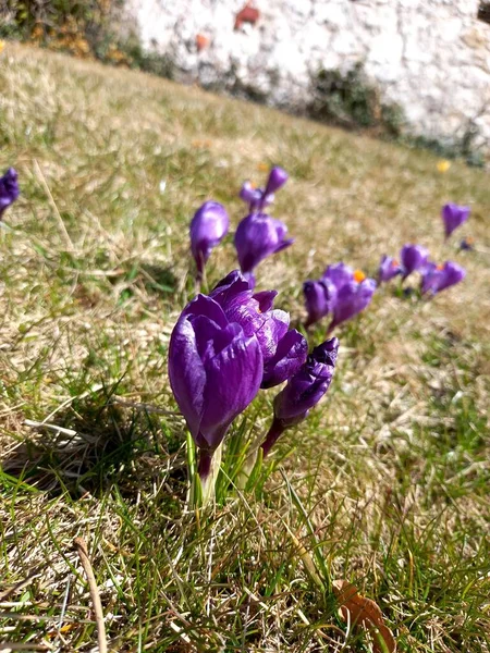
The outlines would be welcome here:
M 490 25 L 477 20 L 479 0 L 256 0 L 258 23 L 237 32 L 244 0 L 126 3 L 144 48 L 167 53 L 184 79 L 237 81 L 297 108 L 320 69 L 363 62 L 413 133 L 453 140 L 473 121 L 490 141 Z M 200 52 L 198 34 L 209 39 Z

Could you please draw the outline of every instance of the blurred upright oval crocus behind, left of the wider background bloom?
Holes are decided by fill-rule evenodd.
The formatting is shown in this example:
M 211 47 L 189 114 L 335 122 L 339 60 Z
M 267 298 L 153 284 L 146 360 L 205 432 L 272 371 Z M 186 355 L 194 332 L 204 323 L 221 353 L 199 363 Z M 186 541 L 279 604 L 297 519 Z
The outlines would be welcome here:
M 201 279 L 206 262 L 230 225 L 228 213 L 217 201 L 206 201 L 191 222 L 191 250 L 197 266 L 197 278 Z

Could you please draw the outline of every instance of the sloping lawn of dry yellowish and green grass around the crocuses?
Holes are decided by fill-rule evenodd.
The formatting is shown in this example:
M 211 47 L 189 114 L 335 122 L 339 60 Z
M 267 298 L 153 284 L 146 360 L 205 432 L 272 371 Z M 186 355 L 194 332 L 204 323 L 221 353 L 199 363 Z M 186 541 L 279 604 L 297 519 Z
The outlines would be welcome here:
M 111 651 L 371 650 L 305 559 L 377 601 L 400 651 L 490 651 L 488 174 L 13 45 L 0 84 L 0 170 L 22 185 L 0 232 L 0 641 L 94 650 L 82 535 Z M 373 272 L 405 242 L 468 278 L 431 304 L 382 288 L 340 329 L 329 396 L 265 496 L 196 519 L 167 379 L 187 225 L 212 197 L 235 226 L 241 182 L 271 163 L 291 173 L 273 214 L 296 243 L 259 284 L 294 320 L 306 278 L 341 259 Z M 471 206 L 475 251 L 443 244 L 448 200 Z M 210 282 L 235 266 L 229 238 Z M 257 433 L 273 395 L 248 410 Z

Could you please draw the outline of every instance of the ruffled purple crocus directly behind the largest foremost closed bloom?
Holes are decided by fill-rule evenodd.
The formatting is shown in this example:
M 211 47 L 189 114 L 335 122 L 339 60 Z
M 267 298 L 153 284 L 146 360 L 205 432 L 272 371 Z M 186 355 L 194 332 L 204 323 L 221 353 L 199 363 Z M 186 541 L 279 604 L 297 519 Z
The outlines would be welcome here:
M 303 335 L 289 331 L 289 313 L 273 308 L 277 294 L 275 291 L 254 294 L 249 282 L 237 270 L 210 294 L 230 322 L 240 324 L 245 335 L 257 337 L 264 360 L 261 387 L 279 385 L 296 373 L 308 353 Z

